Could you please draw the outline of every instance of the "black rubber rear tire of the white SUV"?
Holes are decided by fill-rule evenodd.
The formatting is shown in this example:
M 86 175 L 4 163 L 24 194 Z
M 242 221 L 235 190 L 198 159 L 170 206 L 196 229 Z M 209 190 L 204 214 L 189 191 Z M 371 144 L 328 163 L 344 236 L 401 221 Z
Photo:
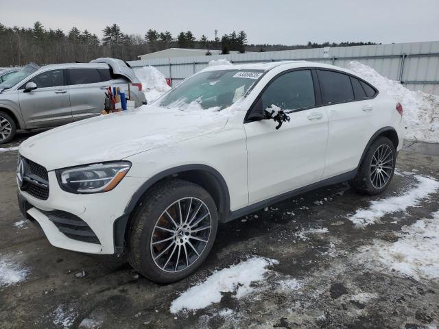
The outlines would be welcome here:
M 392 151 L 392 161 L 386 164 L 389 168 L 385 169 L 385 175 L 383 173 L 381 176 L 385 177 L 385 179 L 387 180 L 385 184 L 384 181 L 382 182 L 382 186 L 378 186 L 379 184 L 377 184 L 377 180 L 374 180 L 375 176 L 372 175 L 373 168 L 375 168 L 374 164 L 376 163 L 373 159 L 374 155 L 377 155 L 376 152 L 379 147 L 381 147 L 381 149 L 390 149 Z M 361 194 L 377 195 L 385 191 L 385 189 L 388 188 L 390 182 L 392 181 L 393 173 L 395 170 L 395 163 L 396 151 L 392 141 L 390 141 L 390 139 L 387 137 L 381 136 L 377 138 L 372 143 L 372 145 L 370 145 L 370 147 L 366 151 L 366 155 L 361 161 L 357 175 L 353 180 L 349 182 L 349 184 L 351 184 L 351 187 Z M 383 171 L 383 169 L 381 169 L 381 171 Z M 372 182 L 372 180 L 374 180 L 374 182 Z

